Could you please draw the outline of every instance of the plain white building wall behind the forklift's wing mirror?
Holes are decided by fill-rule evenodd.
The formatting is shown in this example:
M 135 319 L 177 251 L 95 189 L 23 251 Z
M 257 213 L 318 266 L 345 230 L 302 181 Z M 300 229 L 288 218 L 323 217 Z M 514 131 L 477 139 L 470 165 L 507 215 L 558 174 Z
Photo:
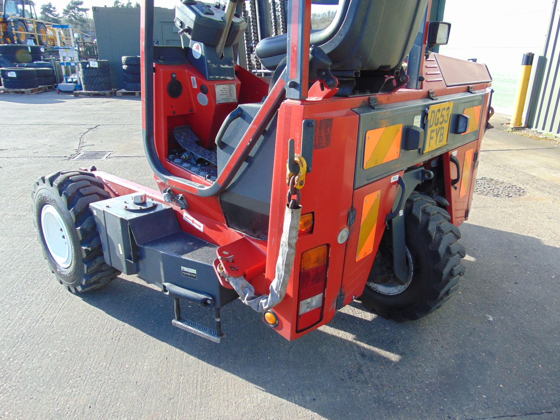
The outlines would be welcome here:
M 486 64 L 493 78 L 492 106 L 498 113 L 511 115 L 522 56 L 532 52 L 536 58 L 542 53 L 553 3 L 447 0 L 444 21 L 451 23 L 451 34 L 449 44 L 440 46 L 440 53 L 461 59 L 477 58 L 479 63 Z

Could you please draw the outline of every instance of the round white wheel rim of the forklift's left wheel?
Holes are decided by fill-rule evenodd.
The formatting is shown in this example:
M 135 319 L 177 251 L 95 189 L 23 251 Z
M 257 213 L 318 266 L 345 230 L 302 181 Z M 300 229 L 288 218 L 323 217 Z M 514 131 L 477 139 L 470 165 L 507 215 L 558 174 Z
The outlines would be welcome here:
M 41 230 L 45 238 L 46 248 L 55 262 L 62 268 L 72 264 L 72 245 L 62 217 L 50 204 L 41 210 Z

